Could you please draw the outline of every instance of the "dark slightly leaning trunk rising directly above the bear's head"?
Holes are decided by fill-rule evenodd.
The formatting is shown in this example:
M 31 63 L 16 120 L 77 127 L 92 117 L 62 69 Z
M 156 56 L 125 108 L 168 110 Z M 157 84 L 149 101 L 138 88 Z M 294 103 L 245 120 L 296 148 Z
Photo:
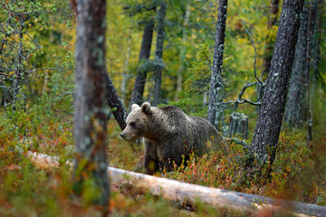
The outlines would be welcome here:
M 144 33 L 142 36 L 141 47 L 139 52 L 139 64 L 141 64 L 142 61 L 149 60 L 150 47 L 153 39 L 153 31 L 154 31 L 154 20 L 150 19 L 145 25 Z M 129 109 L 131 108 L 132 104 L 136 103 L 140 105 L 143 102 L 146 76 L 147 76 L 146 69 L 140 66 L 132 90 Z

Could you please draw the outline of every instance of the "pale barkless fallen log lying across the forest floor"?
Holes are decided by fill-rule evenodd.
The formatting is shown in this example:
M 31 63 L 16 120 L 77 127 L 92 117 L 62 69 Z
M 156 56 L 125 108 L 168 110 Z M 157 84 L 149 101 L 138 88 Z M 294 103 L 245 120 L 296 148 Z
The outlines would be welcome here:
M 58 158 L 40 153 L 28 152 L 36 168 L 49 169 L 58 167 Z M 66 164 L 73 165 L 72 162 Z M 144 175 L 108 166 L 110 184 L 119 186 L 131 184 L 134 187 L 149 190 L 154 195 L 162 196 L 169 201 L 203 202 L 217 207 L 253 212 L 254 210 L 288 210 L 296 216 L 326 216 L 326 207 L 311 203 L 300 203 L 273 199 L 250 193 L 238 193 L 223 189 L 211 188 L 197 184 L 187 184 Z

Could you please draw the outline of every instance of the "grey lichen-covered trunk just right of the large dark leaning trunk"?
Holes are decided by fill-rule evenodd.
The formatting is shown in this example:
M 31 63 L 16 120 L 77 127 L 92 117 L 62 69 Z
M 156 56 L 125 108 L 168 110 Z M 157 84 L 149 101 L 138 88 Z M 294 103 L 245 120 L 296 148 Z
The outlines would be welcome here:
M 307 52 L 309 37 L 309 7 L 307 3 L 303 6 L 298 42 L 295 48 L 292 64 L 292 74 L 287 95 L 284 112 L 284 121 L 291 128 L 302 127 L 302 122 L 307 118 Z

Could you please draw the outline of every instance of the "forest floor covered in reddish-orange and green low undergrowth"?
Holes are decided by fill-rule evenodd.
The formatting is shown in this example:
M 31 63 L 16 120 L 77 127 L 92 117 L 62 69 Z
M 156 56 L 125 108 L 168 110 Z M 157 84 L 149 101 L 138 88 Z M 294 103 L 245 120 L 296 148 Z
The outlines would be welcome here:
M 25 156 L 27 151 L 60 156 L 60 162 L 73 159 L 71 119 L 41 121 L 33 112 L 3 116 L 0 121 L 0 215 L 2 216 L 98 216 L 98 207 L 90 205 L 92 192 L 82 199 L 72 196 L 71 168 L 39 170 Z M 253 124 L 254 126 L 254 124 Z M 253 127 L 250 126 L 250 127 Z M 324 126 L 314 134 L 312 149 L 305 145 L 304 131 L 284 131 L 272 173 L 270 165 L 259 171 L 245 170 L 247 155 L 242 146 L 229 144 L 230 153 L 223 156 L 192 156 L 188 166 L 157 176 L 191 184 L 255 193 L 276 198 L 326 205 L 326 137 Z M 286 129 L 285 129 L 286 130 Z M 110 120 L 108 156 L 110 165 L 141 172 L 142 146 L 131 146 L 120 139 L 120 129 Z M 249 143 L 250 141 L 247 140 Z M 263 178 L 262 178 L 263 177 Z M 120 186 L 111 189 L 112 216 L 259 216 L 260 212 L 235 212 L 216 209 L 203 203 L 168 202 L 148 192 Z M 280 213 L 273 213 L 280 216 Z M 282 214 L 281 214 L 282 216 Z

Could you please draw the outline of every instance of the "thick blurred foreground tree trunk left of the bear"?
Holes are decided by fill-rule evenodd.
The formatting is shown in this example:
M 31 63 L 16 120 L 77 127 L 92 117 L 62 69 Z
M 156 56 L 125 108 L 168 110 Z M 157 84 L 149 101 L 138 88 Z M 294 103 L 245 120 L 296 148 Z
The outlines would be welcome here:
M 73 170 L 74 191 L 82 193 L 91 183 L 91 191 L 98 192 L 93 203 L 100 204 L 103 211 L 110 196 L 106 155 L 109 109 L 105 103 L 105 14 L 105 0 L 78 1 Z

